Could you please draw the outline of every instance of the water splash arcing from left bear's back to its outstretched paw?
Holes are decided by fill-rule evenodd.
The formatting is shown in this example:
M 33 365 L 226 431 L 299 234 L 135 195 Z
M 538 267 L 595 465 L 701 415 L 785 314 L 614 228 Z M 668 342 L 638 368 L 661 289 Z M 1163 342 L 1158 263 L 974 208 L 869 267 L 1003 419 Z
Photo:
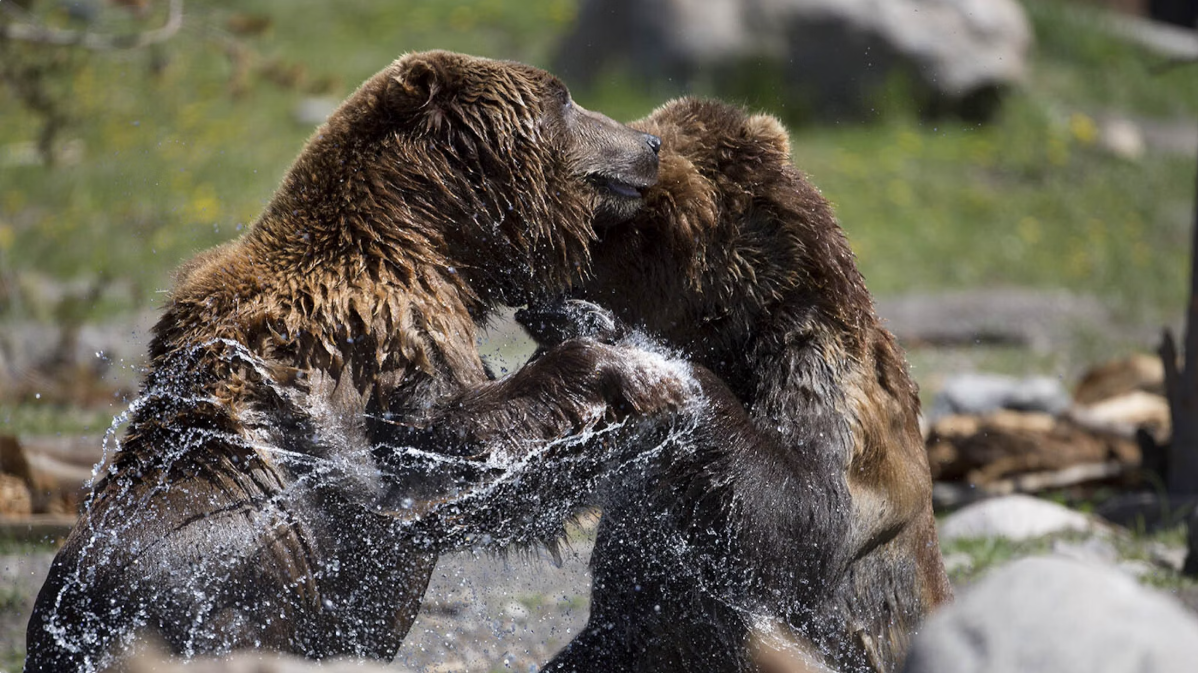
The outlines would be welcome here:
M 649 346 L 645 342 L 634 345 Z M 576 435 L 501 445 L 479 455 L 438 453 L 403 443 L 381 447 L 392 461 L 417 472 L 449 472 L 468 477 L 455 480 L 453 487 L 436 502 L 418 503 L 411 493 L 404 492 L 403 483 L 392 481 L 391 474 L 380 469 L 373 460 L 367 460 L 376 447 L 362 445 L 362 436 L 355 426 L 332 422 L 304 426 L 304 431 L 313 435 L 304 437 L 304 450 L 300 450 L 282 441 L 284 435 L 295 431 L 295 426 L 280 426 L 277 413 L 258 407 L 240 410 L 235 416 L 235 426 L 242 428 L 242 432 L 198 426 L 174 429 L 170 433 L 173 441 L 159 447 L 161 455 L 155 456 L 153 465 L 144 471 L 137 468 L 137 461 L 122 460 L 126 448 L 121 431 L 131 424 L 137 425 L 139 419 L 159 410 L 222 405 L 220 400 L 200 386 L 193 370 L 201 354 L 211 357 L 214 352 L 218 353 L 219 364 L 242 368 L 254 377 L 256 386 L 265 389 L 264 394 L 277 399 L 283 407 L 290 410 L 291 416 L 305 419 L 327 419 L 332 416 L 325 406 L 325 398 L 278 383 L 268 363 L 230 340 L 198 345 L 190 352 L 181 353 L 175 359 L 174 368 L 156 372 L 141 395 L 114 419 L 105 432 L 103 460 L 93 469 L 92 485 L 105 481 L 110 491 L 115 486 L 116 495 L 108 493 L 104 497 L 115 498 L 122 507 L 104 507 L 97 501 L 99 491 L 96 490 L 85 501 L 85 527 L 78 533 L 84 540 L 79 562 L 66 574 L 46 622 L 47 631 L 61 649 L 87 651 L 103 637 L 105 625 L 120 622 L 128 625 L 115 641 L 114 649 L 121 651 L 134 642 L 138 630 L 152 626 L 152 600 L 132 604 L 113 601 L 83 614 L 81 620 L 78 611 L 72 611 L 71 614 L 62 611 L 63 600 L 87 593 L 90 587 L 102 581 L 101 574 L 105 568 L 150 551 L 152 542 L 139 540 L 131 547 L 128 540 L 139 538 L 138 529 L 146 525 L 146 517 L 153 516 L 155 503 L 179 487 L 170 478 L 171 469 L 176 463 L 186 465 L 194 457 L 194 451 L 207 450 L 212 445 L 225 447 L 237 454 L 264 456 L 286 473 L 288 480 L 282 481 L 268 497 L 258 501 L 254 510 L 249 514 L 238 513 L 250 517 L 252 529 L 278 526 L 280 520 L 286 519 L 288 503 L 296 497 L 334 489 L 352 496 L 363 513 L 391 517 L 392 525 L 386 530 L 386 536 L 368 540 L 364 545 L 367 548 L 386 546 L 398 539 L 409 540 L 417 546 L 423 544 L 430 551 L 452 546 L 504 548 L 538 539 L 552 541 L 561 535 L 563 522 L 580 505 L 593 502 L 594 493 L 610 487 L 605 485 L 605 480 L 611 479 L 612 474 L 651 473 L 664 462 L 697 450 L 694 441 L 696 430 L 712 423 L 710 408 L 690 376 L 689 365 L 673 358 L 673 353 L 646 350 L 635 357 L 646 358 L 661 371 L 686 381 L 690 388 L 690 401 L 670 423 L 629 418 L 603 424 L 598 422 L 603 417 L 603 410 L 597 407 L 597 420 Z M 308 450 L 311 447 L 321 450 Z M 261 645 L 261 639 L 248 643 L 235 641 L 213 626 L 220 619 L 228 586 L 236 582 L 236 575 L 243 564 L 252 562 L 259 551 L 258 541 L 248 540 L 247 544 L 244 535 L 210 535 L 204 542 L 208 545 L 206 553 L 202 557 L 193 556 L 194 563 L 188 568 L 169 569 L 167 576 L 175 582 L 159 589 L 162 593 L 157 595 L 163 601 L 180 601 L 190 606 L 189 623 L 186 626 L 188 636 L 177 649 L 184 656 L 193 656 L 200 653 L 225 653 L 247 644 Z M 694 541 L 678 532 L 668 540 L 666 550 L 665 556 L 670 558 L 686 558 L 695 551 Z M 386 560 L 386 557 L 379 558 L 379 563 Z M 343 569 L 339 559 L 333 558 L 313 571 L 317 576 L 338 576 Z M 722 583 L 709 586 L 700 582 L 697 588 L 721 600 L 726 599 Z M 187 595 L 181 596 L 180 592 Z M 153 596 L 153 592 L 150 595 Z M 325 607 L 337 611 L 341 606 L 328 600 Z M 746 606 L 737 608 L 749 610 Z M 288 619 L 285 602 L 279 604 L 273 619 Z M 224 626 L 236 630 L 238 624 Z M 350 623 L 339 624 L 338 629 L 343 626 L 367 627 L 365 624 Z M 98 671 L 109 662 L 107 657 L 91 660 L 84 669 Z

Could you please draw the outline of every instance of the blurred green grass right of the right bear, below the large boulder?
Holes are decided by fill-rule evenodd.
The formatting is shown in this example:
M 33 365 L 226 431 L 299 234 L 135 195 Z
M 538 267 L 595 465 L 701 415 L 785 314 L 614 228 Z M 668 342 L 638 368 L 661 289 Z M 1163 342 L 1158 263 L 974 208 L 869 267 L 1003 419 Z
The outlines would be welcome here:
M 812 129 L 794 153 L 876 293 L 1066 287 L 1136 317 L 1185 299 L 1193 158 L 1125 162 L 1028 96 L 993 126 Z

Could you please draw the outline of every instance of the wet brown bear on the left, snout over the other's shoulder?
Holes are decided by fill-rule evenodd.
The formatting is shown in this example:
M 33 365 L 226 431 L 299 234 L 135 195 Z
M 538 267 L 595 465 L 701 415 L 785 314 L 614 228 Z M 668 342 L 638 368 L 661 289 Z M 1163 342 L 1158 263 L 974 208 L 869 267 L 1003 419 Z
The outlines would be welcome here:
M 658 144 L 519 63 L 411 54 L 369 79 L 252 231 L 180 272 L 25 669 L 102 669 L 141 631 L 183 655 L 394 656 L 437 552 L 496 521 L 387 516 L 373 448 L 435 405 L 482 399 L 547 438 L 671 402 L 622 348 L 571 342 L 502 382 L 476 350 L 496 303 L 585 268 L 592 218 L 634 212 Z

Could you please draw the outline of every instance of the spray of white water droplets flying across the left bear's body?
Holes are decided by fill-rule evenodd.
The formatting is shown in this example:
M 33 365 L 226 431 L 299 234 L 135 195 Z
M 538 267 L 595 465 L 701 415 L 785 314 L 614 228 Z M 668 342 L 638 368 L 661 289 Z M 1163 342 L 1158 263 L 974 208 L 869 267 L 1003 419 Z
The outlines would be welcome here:
M 645 344 L 640 344 L 645 345 Z M 152 461 L 126 460 L 122 431 L 137 432 L 139 424 L 167 417 L 179 410 L 220 406 L 211 390 L 196 380 L 195 363 L 216 358 L 222 368 L 237 369 L 253 377 L 270 398 L 267 406 L 249 405 L 237 410 L 232 428 L 171 428 L 170 442 L 156 447 Z M 184 636 L 171 647 L 184 656 L 222 654 L 242 647 L 278 647 L 262 633 L 274 620 L 292 618 L 288 596 L 261 596 L 253 610 L 230 611 L 230 595 L 253 595 L 252 588 L 238 587 L 247 564 L 254 564 L 270 536 L 262 532 L 279 529 L 291 522 L 294 503 L 311 493 L 335 492 L 359 508 L 362 516 L 382 516 L 391 521 L 376 539 L 346 540 L 357 550 L 380 550 L 377 558 L 353 559 L 361 566 L 395 564 L 392 547 L 409 545 L 440 552 L 448 548 L 504 548 L 534 541 L 552 542 L 563 523 L 595 492 L 606 489 L 611 474 L 645 472 L 661 461 L 676 459 L 689 450 L 689 437 L 696 426 L 708 423 L 698 386 L 689 368 L 671 353 L 641 351 L 646 368 L 657 366 L 662 375 L 686 382 L 690 401 L 676 417 L 661 419 L 628 418 L 605 420 L 605 410 L 595 406 L 581 431 L 551 441 L 526 439 L 480 447 L 470 455 L 441 453 L 422 445 L 362 445 L 358 422 L 340 422 L 320 395 L 280 384 L 268 363 L 243 345 L 214 340 L 180 353 L 173 366 L 159 368 L 143 394 L 117 417 L 104 437 L 104 457 L 93 472 L 98 486 L 85 503 L 85 517 L 75 536 L 78 551 L 49 604 L 43 627 L 58 648 L 85 654 L 83 671 L 102 671 L 111 663 L 111 654 L 121 656 L 134 644 L 139 631 L 153 630 L 164 604 L 186 606 L 186 624 L 175 625 Z M 206 363 L 213 366 L 212 363 Z M 278 410 L 284 410 L 282 413 Z M 295 419 L 303 423 L 295 423 Z M 374 419 L 380 420 L 380 419 Z M 297 441 L 296 435 L 301 435 Z M 196 454 L 212 447 L 234 456 L 260 456 L 274 471 L 271 490 L 255 495 L 253 507 L 223 509 L 223 502 L 196 503 L 196 517 L 228 517 L 235 526 L 211 526 L 202 536 L 189 538 L 198 548 L 190 552 L 164 550 L 173 540 L 147 539 L 144 528 L 161 516 L 187 519 L 184 513 L 162 510 L 168 497 L 181 487 L 177 469 L 189 469 Z M 313 449 L 316 447 L 316 449 Z M 144 447 L 141 447 L 144 450 Z M 440 497 L 417 502 L 404 486 L 373 460 L 379 451 L 388 454 L 388 465 L 405 466 L 406 478 L 426 473 L 430 479 L 453 473 L 458 478 Z M 236 457 L 230 459 L 236 462 Z M 248 467 L 248 466 L 246 466 Z M 179 501 L 174 501 L 179 502 Z M 355 534 L 350 528 L 347 534 Z M 688 540 L 679 535 L 672 542 L 677 554 L 685 554 Z M 202 548 L 199 548 L 202 547 Z M 373 556 L 373 554 L 371 554 Z M 156 566 L 156 559 L 187 560 L 179 566 Z M 309 570 L 311 577 L 300 577 L 295 590 L 323 577 L 338 577 L 344 558 L 325 558 Z M 147 565 L 139 576 L 139 563 Z M 133 570 L 129 570 L 133 568 Z M 392 569 L 393 571 L 393 569 Z M 386 576 L 379 570 L 379 576 Z M 128 582 L 114 594 L 114 577 Z M 138 580 L 138 577 L 143 577 Z M 132 580 L 131 580 L 132 578 Z M 105 590 L 97 590 L 107 587 Z M 365 595 L 369 587 L 362 589 Z M 103 602 L 83 601 L 80 596 L 99 595 Z M 129 598 L 132 596 L 132 598 Z M 128 598 L 128 600 L 126 600 Z M 247 599 L 248 600 L 248 599 Z M 325 599 L 331 601 L 332 599 Z M 277 611 L 272 612 L 272 601 Z M 340 596 L 338 602 L 350 602 Z M 329 611 L 352 610 L 328 602 Z M 246 624 L 250 618 L 265 624 Z M 371 617 L 340 619 L 332 623 L 331 638 L 353 639 L 355 629 L 370 629 Z M 114 625 L 120 625 L 114 632 Z M 248 633 L 248 636 L 247 636 Z M 87 654 L 103 653 L 103 654 Z

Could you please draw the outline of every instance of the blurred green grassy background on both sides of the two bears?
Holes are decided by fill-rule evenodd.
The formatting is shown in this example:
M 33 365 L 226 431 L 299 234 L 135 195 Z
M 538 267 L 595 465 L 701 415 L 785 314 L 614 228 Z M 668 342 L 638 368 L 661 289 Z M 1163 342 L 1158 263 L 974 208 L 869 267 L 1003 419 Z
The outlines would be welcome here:
M 98 34 L 167 14 L 145 0 L 23 5 Z M 1193 120 L 1198 68 L 1112 37 L 1087 5 L 1025 10 L 1029 78 L 991 123 L 925 120 L 896 83 L 867 122 L 793 126 L 795 162 L 835 204 L 875 295 L 1063 287 L 1123 320 L 1175 322 L 1194 157 L 1119 156 L 1096 129 L 1111 113 Z M 252 225 L 314 128 L 305 102 L 340 99 L 410 50 L 550 67 L 577 13 L 577 0 L 207 0 L 152 47 L 0 43 L 0 325 L 158 305 L 183 259 Z M 40 102 L 19 87 L 29 72 Z M 743 103 L 780 104 L 754 86 Z M 619 120 L 662 102 L 628 72 L 574 93 Z

